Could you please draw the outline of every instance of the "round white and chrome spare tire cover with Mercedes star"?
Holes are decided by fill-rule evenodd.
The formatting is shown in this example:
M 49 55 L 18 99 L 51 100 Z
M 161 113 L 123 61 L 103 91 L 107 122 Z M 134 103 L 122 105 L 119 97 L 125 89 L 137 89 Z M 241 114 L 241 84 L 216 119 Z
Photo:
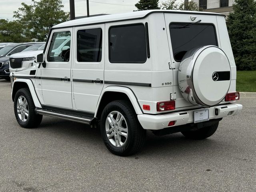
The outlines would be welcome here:
M 214 106 L 230 87 L 230 63 L 217 46 L 203 46 L 186 52 L 178 71 L 182 96 L 190 103 Z

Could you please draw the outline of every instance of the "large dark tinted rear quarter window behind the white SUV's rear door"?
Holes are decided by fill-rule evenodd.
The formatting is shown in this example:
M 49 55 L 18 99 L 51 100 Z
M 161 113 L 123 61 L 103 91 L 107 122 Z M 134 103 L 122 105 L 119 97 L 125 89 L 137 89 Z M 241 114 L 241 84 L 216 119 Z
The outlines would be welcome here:
M 109 30 L 109 60 L 112 63 L 144 63 L 146 36 L 143 24 L 114 26 Z

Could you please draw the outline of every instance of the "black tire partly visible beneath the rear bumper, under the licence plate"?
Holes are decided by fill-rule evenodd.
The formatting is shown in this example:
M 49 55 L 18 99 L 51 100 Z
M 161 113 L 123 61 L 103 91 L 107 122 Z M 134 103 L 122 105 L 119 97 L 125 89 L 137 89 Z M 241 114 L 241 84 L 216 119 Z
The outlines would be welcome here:
M 201 140 L 212 136 L 217 128 L 219 122 L 212 124 L 211 126 L 203 127 L 198 130 L 190 130 L 181 132 L 186 138 Z

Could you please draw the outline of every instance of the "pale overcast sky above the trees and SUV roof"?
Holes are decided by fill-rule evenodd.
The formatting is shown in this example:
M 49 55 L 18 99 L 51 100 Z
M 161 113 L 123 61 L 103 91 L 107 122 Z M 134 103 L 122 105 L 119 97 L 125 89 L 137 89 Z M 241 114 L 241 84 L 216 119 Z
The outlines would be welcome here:
M 134 4 L 139 0 L 89 0 L 90 14 L 114 14 L 136 10 Z M 162 0 L 160 0 L 162 1 Z M 179 0 L 181 1 L 181 0 Z M 31 0 L 1 0 L 0 19 L 13 20 L 13 12 L 21 7 L 21 3 L 32 4 Z M 70 11 L 69 0 L 62 0 L 63 10 Z M 76 16 L 86 15 L 86 0 L 75 0 Z

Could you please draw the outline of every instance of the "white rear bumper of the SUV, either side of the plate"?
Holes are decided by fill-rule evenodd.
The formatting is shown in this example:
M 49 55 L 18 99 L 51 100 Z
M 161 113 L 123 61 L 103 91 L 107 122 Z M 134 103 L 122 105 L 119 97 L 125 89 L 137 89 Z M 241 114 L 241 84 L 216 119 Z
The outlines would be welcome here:
M 240 104 L 226 104 L 210 107 L 209 119 L 219 119 L 227 116 L 237 115 L 242 110 Z M 196 109 L 198 110 L 198 109 Z M 174 127 L 194 122 L 194 111 L 180 111 L 169 114 L 149 115 L 141 114 L 138 115 L 138 120 L 144 129 L 148 130 L 160 130 L 167 127 Z M 173 126 L 168 126 L 170 121 L 175 121 Z

